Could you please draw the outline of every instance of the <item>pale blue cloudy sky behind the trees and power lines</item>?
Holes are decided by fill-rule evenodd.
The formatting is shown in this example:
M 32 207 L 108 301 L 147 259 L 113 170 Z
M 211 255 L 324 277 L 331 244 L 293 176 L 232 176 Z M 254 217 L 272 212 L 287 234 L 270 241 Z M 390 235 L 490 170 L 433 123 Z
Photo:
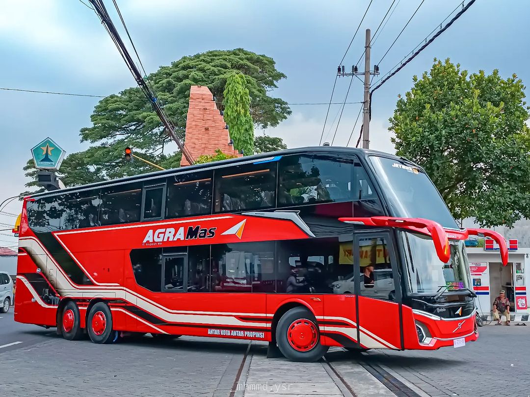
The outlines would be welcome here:
M 393 1 L 373 0 L 343 61 L 347 70 L 363 54 L 365 29 L 371 29 L 374 35 Z M 373 64 L 381 60 L 420 2 L 395 1 L 394 12 L 388 14 L 391 15 L 379 35 L 374 35 Z M 117 3 L 147 73 L 185 55 L 242 47 L 272 57 L 277 68 L 287 75 L 271 95 L 289 103 L 328 103 L 337 66 L 369 0 L 117 0 Z M 381 75 L 392 70 L 458 4 L 461 2 L 457 0 L 425 0 L 379 64 Z M 118 26 L 111 0 L 105 0 L 105 5 Z M 0 9 L 0 88 L 109 95 L 135 85 L 98 17 L 80 1 L 0 0 Z M 528 15 L 527 0 L 477 0 L 446 32 L 374 93 L 370 148 L 394 152 L 387 131 L 388 118 L 393 114 L 398 95 L 411 88 L 412 76 L 429 70 L 435 57 L 449 57 L 470 72 L 479 69 L 491 72 L 497 68 L 505 78 L 516 73 L 528 84 Z M 359 70 L 364 70 L 361 64 Z M 337 80 L 333 102 L 344 101 L 349 82 L 347 77 Z M 24 183 L 28 181 L 22 167 L 30 158 L 30 149 L 42 139 L 51 137 L 67 153 L 87 147 L 78 134 L 81 128 L 91 125 L 90 115 L 98 100 L 0 90 L 3 148 L 0 202 L 25 190 Z M 354 79 L 348 102 L 362 100 L 363 84 Z M 341 105 L 332 105 L 324 141 L 346 146 L 360 106 L 346 105 L 337 128 Z M 328 106 L 293 105 L 291 110 L 293 114 L 288 120 L 266 133 L 281 137 L 288 147 L 318 145 Z M 360 120 L 350 146 L 355 146 L 359 128 Z M 4 211 L 20 213 L 20 202 L 11 202 Z M 14 221 L 13 216 L 0 214 L 0 246 L 16 242 L 10 231 L 3 230 Z

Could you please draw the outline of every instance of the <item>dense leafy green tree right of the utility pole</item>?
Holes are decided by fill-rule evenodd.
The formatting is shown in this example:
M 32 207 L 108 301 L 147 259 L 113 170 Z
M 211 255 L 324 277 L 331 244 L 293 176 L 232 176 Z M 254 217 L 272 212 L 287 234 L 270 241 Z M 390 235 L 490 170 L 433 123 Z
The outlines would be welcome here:
M 487 227 L 530 217 L 530 134 L 523 82 L 468 75 L 449 59 L 413 77 L 390 119 L 398 156 L 423 166 L 456 219 Z

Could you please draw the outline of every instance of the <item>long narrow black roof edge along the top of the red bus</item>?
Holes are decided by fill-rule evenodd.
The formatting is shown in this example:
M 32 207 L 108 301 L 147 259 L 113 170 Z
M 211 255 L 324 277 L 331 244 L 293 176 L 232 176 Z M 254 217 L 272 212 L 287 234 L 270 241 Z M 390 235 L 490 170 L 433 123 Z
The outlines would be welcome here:
M 293 149 L 285 149 L 285 150 L 279 150 L 279 151 L 274 151 L 274 152 L 260 153 L 258 155 L 244 156 L 244 157 L 238 157 L 238 158 L 228 159 L 228 160 L 220 160 L 220 161 L 215 161 L 213 163 L 196 164 L 196 165 L 184 166 L 184 167 L 179 167 L 179 168 L 171 168 L 171 169 L 166 169 L 163 171 L 155 171 L 152 173 L 138 174 L 134 176 L 127 176 L 127 177 L 117 178 L 117 179 L 109 179 L 108 181 L 94 182 L 94 183 L 86 184 L 86 185 L 67 187 L 66 189 L 60 189 L 60 190 L 37 193 L 37 194 L 30 194 L 24 197 L 24 200 L 30 197 L 40 198 L 40 197 L 46 197 L 46 196 L 54 196 L 58 194 L 68 193 L 68 192 L 75 192 L 77 190 L 85 190 L 87 188 L 92 188 L 92 187 L 96 188 L 96 187 L 104 187 L 107 185 L 122 184 L 126 182 L 143 181 L 145 179 L 153 179 L 153 178 L 159 178 L 159 177 L 164 177 L 164 176 L 170 176 L 170 175 L 178 174 L 179 172 L 190 172 L 190 171 L 195 171 L 195 170 L 198 171 L 198 170 L 206 170 L 206 169 L 215 169 L 215 168 L 225 167 L 225 166 L 232 165 L 232 164 L 234 165 L 248 164 L 248 163 L 254 163 L 256 161 L 266 160 L 266 159 L 272 160 L 274 157 L 277 157 L 277 156 L 315 154 L 315 153 L 345 153 L 345 154 L 348 153 L 348 154 L 356 154 L 360 157 L 376 155 L 376 156 L 392 158 L 392 159 L 399 160 L 399 161 L 407 161 L 408 163 L 411 163 L 414 166 L 419 167 L 417 164 L 414 164 L 412 163 L 412 161 L 407 160 L 403 157 L 398 157 L 398 156 L 391 155 L 389 153 L 385 153 L 385 152 L 377 151 L 377 150 L 367 150 L 367 149 L 347 148 L 347 147 L 337 147 L 337 146 L 310 146 L 310 147 L 293 148 Z

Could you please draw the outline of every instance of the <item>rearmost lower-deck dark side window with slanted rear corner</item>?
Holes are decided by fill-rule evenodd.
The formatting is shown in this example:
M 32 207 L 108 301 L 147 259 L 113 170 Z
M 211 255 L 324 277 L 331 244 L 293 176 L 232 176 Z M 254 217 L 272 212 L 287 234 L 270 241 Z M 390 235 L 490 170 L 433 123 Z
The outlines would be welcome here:
M 149 291 L 162 288 L 162 248 L 133 249 L 130 253 L 136 283 Z

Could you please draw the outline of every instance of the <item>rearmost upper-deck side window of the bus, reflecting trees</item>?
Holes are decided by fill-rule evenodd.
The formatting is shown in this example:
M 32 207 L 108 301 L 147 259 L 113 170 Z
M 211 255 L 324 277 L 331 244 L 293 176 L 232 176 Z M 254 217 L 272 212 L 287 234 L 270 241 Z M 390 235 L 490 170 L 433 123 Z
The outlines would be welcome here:
M 27 206 L 28 222 L 32 229 L 40 232 L 59 230 L 61 217 L 65 213 L 65 200 L 61 196 L 37 198 Z

